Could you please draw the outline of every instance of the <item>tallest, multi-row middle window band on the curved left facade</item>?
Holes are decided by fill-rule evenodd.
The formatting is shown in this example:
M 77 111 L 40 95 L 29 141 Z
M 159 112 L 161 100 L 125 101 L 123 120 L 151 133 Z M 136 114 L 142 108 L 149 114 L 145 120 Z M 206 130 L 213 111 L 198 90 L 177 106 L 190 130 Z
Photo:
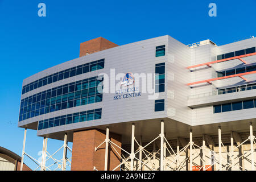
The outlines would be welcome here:
M 91 77 L 24 98 L 20 102 L 19 121 L 57 110 L 101 102 L 102 81 L 103 77 Z

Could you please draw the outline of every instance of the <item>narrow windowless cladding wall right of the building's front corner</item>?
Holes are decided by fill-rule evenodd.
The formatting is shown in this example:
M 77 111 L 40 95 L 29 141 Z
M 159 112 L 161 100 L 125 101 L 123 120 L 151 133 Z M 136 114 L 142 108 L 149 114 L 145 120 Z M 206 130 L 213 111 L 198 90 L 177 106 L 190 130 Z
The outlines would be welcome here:
M 185 85 L 190 72 L 185 69 L 191 64 L 191 48 L 168 38 L 167 58 L 167 117 L 191 125 L 191 109 L 187 98 L 191 89 Z

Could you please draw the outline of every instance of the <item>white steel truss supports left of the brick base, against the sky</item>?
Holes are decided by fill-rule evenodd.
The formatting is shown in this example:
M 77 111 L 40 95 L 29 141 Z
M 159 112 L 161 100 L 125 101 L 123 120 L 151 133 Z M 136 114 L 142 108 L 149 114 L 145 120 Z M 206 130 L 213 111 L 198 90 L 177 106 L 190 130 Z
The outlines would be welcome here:
M 49 154 L 47 151 L 47 139 L 46 137 L 43 138 L 43 150 L 42 150 L 42 160 L 36 160 L 33 158 L 31 155 L 27 154 L 25 152 L 25 144 L 26 144 L 26 134 L 27 134 L 27 129 L 24 130 L 24 139 L 23 139 L 23 149 L 22 149 L 22 160 L 20 164 L 20 171 L 23 169 L 23 160 L 24 156 L 27 156 L 29 159 L 31 159 L 38 167 L 34 169 L 34 171 L 40 169 L 41 171 L 56 171 L 57 169 L 61 169 L 62 171 L 66 170 L 67 166 L 71 166 L 71 158 L 67 158 L 67 152 L 71 152 L 72 154 L 72 149 L 68 147 L 68 141 L 67 141 L 67 134 L 64 134 L 64 144 L 61 146 L 57 151 L 53 152 L 53 154 Z M 58 160 L 53 158 L 57 154 L 57 152 L 61 151 L 63 149 L 63 158 Z M 51 160 L 49 160 L 51 159 Z M 51 162 L 50 162 L 51 161 Z M 51 163 L 51 164 L 48 164 Z

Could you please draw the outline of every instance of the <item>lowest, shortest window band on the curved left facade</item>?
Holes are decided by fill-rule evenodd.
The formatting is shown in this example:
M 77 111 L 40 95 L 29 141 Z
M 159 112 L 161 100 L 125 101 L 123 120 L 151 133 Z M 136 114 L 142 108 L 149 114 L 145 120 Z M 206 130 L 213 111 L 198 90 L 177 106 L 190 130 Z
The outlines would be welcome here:
M 82 111 L 80 113 L 61 115 L 55 118 L 44 119 L 38 122 L 38 130 L 48 129 L 50 127 L 61 126 L 61 125 L 69 125 L 71 123 L 101 119 L 101 113 L 102 113 L 101 109 L 94 109 L 94 110 Z

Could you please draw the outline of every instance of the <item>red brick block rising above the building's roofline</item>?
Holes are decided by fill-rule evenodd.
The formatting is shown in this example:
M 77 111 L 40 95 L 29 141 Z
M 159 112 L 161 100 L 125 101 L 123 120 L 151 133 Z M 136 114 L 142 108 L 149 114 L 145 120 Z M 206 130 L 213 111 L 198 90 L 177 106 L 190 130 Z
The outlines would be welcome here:
M 79 57 L 85 56 L 86 53 L 90 54 L 117 46 L 117 44 L 110 42 L 109 40 L 104 39 L 102 37 L 88 40 L 80 44 Z

